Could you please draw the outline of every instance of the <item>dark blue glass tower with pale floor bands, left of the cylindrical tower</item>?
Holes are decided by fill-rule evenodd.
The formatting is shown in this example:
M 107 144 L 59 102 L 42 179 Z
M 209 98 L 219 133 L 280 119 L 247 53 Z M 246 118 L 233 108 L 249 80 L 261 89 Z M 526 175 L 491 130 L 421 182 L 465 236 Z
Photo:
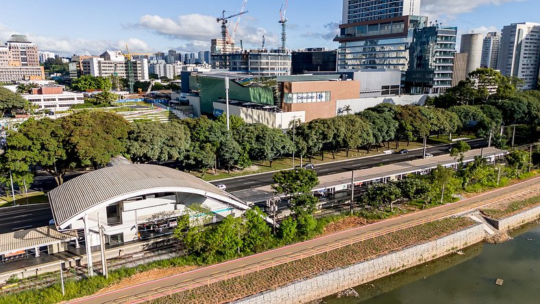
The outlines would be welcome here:
M 452 86 L 457 27 L 415 29 L 405 88 L 411 94 L 444 93 Z

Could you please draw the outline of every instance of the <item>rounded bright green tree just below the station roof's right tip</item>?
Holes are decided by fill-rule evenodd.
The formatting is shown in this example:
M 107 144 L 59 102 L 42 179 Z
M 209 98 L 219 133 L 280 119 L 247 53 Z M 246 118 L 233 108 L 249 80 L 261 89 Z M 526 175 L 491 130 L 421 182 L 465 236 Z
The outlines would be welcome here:
M 258 207 L 248 209 L 245 213 L 245 231 L 242 248 L 249 253 L 258 253 L 266 250 L 271 241 L 271 228 L 265 222 L 266 215 Z

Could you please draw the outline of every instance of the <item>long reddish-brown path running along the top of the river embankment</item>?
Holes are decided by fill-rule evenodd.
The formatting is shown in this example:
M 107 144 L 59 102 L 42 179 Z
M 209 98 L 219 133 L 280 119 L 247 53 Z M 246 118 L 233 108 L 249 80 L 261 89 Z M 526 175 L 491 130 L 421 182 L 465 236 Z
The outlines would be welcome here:
M 392 233 L 400 229 L 423 224 L 433 220 L 447 218 L 452 215 L 461 214 L 470 209 L 482 207 L 485 204 L 496 202 L 500 198 L 511 198 L 522 191 L 537 191 L 540 178 L 532 178 L 524 182 L 517 183 L 508 187 L 488 191 L 472 198 L 467 198 L 453 204 L 445 204 L 440 207 L 417 211 L 398 218 L 382 220 L 374 224 L 361 226 L 356 229 L 349 229 L 339 233 L 333 233 L 316 239 L 311 239 L 306 242 L 284 246 L 274 250 L 269 250 L 264 253 L 242 257 L 231 261 L 226 261 L 221 264 L 215 264 L 205 268 L 199 268 L 189 272 L 175 274 L 171 277 L 140 283 L 120 290 L 104 292 L 86 298 L 76 299 L 68 303 L 147 303 L 149 294 L 153 298 L 159 296 L 162 292 L 170 292 L 171 288 L 180 285 L 188 285 L 188 283 L 204 284 L 208 279 L 213 279 L 219 275 L 233 274 L 241 275 L 241 270 L 246 268 L 257 268 L 257 266 L 268 264 L 271 261 L 293 260 L 298 257 L 299 253 L 313 254 L 314 252 L 322 252 L 327 248 L 334 248 L 347 242 L 358 242 L 360 239 L 369 239 L 376 235 L 384 235 Z

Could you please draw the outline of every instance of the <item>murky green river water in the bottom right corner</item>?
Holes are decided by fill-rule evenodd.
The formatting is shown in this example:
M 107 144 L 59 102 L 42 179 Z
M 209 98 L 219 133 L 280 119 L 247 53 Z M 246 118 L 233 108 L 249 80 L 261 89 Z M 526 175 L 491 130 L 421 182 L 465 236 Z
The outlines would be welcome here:
M 540 303 L 540 224 L 502 244 L 476 244 L 426 264 L 358 285 L 319 303 Z M 495 285 L 496 279 L 502 285 Z M 356 295 L 355 295 L 356 292 Z

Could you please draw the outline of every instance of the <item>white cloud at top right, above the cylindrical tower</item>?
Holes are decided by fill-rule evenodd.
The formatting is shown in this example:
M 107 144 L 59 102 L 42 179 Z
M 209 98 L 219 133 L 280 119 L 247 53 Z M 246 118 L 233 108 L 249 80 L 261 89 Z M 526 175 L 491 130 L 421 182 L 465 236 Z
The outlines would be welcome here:
M 430 21 L 450 21 L 458 14 L 472 12 L 480 6 L 501 5 L 508 2 L 524 0 L 422 0 L 420 13 L 428 16 Z

